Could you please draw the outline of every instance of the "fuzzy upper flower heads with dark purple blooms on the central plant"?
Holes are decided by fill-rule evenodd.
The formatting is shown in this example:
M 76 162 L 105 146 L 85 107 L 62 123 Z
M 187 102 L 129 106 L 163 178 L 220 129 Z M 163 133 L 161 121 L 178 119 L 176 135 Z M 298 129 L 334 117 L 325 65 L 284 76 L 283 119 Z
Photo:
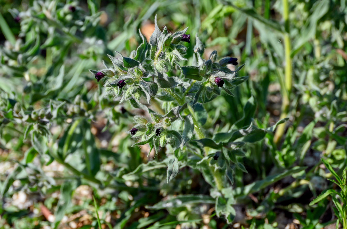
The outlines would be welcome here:
M 236 78 L 242 66 L 236 71 L 228 68 L 228 64 L 238 64 L 237 58 L 224 57 L 217 61 L 217 52 L 213 51 L 209 59 L 204 60 L 204 46 L 197 36 L 192 65 L 185 65 L 189 63 L 185 58 L 185 45 L 191 43 L 191 35 L 186 32 L 187 28 L 172 34 L 166 27 L 161 31 L 155 18 L 155 30 L 149 43 L 139 32 L 142 43 L 129 57 L 117 52 L 115 57 L 109 56 L 112 67 L 105 65 L 103 70 L 91 70 L 98 82 L 104 79 L 109 93 L 115 98 L 120 96 L 120 103 L 129 101 L 149 114 L 150 119 L 134 118 L 134 127 L 129 132 L 141 140 L 135 145 L 149 143 L 157 152 L 166 144 L 182 148 L 187 139 L 172 124 L 183 119 L 181 112 L 188 104 L 209 102 L 221 94 L 221 89 L 232 95 L 232 89 L 247 79 Z M 166 101 L 174 101 L 169 109 L 162 111 L 159 105 L 156 111 L 152 110 L 153 102 L 166 104 Z M 122 108 L 121 112 L 126 111 Z

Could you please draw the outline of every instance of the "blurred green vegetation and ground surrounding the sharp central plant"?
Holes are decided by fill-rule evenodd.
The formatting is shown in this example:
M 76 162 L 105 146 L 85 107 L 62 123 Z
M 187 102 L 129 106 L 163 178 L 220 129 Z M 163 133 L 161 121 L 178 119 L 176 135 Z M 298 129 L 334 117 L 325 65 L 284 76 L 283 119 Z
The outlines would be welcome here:
M 308 229 L 337 228 L 337 219 L 347 228 L 344 0 L 0 6 L 1 228 Z M 204 59 L 217 50 L 245 63 L 238 74 L 249 79 L 235 96 L 204 104 L 206 130 L 226 131 L 244 116 L 266 129 L 289 117 L 237 158 L 232 224 L 217 217 L 198 169 L 181 166 L 167 183 L 172 149 L 147 156 L 149 147 L 131 147 L 128 131 L 143 111 L 120 105 L 88 71 L 111 64 L 107 54 L 129 56 L 155 15 L 161 29 L 189 26 L 191 44 L 197 33 Z M 191 59 L 194 45 L 186 46 Z M 309 205 L 328 189 L 342 197 L 330 191 Z

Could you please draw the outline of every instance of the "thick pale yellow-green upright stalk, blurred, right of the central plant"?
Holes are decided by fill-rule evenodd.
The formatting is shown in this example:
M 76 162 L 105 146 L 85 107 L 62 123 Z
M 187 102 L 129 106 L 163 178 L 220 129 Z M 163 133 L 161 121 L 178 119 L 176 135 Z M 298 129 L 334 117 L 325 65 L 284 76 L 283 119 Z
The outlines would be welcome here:
M 289 96 L 291 91 L 291 57 L 290 57 L 290 39 L 289 39 L 289 4 L 288 0 L 282 0 L 283 5 L 283 19 L 285 21 L 285 34 L 284 34 L 284 46 L 285 46 L 285 88 L 282 88 L 282 108 L 281 108 L 281 116 L 280 118 L 286 118 L 289 111 Z M 274 135 L 274 142 L 278 143 L 284 133 L 285 124 L 280 124 L 277 127 L 276 133 Z

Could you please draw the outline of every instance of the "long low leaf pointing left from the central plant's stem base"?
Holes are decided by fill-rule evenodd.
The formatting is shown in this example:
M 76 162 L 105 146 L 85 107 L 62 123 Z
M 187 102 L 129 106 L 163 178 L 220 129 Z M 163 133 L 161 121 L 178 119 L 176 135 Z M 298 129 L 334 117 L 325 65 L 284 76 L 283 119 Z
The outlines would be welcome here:
M 181 208 L 188 204 L 213 204 L 215 200 L 208 195 L 177 195 L 171 196 L 168 200 L 160 201 L 153 206 L 145 206 L 146 209 L 160 210 L 167 208 Z

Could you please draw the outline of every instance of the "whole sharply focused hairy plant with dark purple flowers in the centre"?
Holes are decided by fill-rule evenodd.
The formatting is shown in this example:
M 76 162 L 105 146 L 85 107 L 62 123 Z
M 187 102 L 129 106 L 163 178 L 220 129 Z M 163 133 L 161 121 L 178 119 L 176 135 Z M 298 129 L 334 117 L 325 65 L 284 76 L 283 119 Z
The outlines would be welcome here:
M 213 51 L 207 60 L 203 59 L 204 46 L 197 36 L 192 60 L 188 61 L 186 45 L 191 45 L 191 35 L 186 32 L 187 28 L 172 34 L 167 27 L 161 31 L 155 18 L 149 43 L 139 32 L 142 43 L 130 57 L 117 52 L 117 56 L 109 56 L 113 66 L 91 72 L 96 80 L 104 81 L 108 93 L 119 98 L 120 103 L 129 102 L 145 111 L 143 116 L 134 116 L 134 126 L 128 133 L 136 141 L 133 146 L 149 144 L 149 153 L 154 148 L 157 154 L 166 154 L 163 162 L 168 165 L 167 183 L 181 167 L 199 169 L 212 186 L 211 196 L 191 196 L 194 203 L 215 203 L 217 215 L 224 215 L 231 222 L 235 217 L 230 185 L 234 170 L 247 172 L 238 161 L 244 156 L 242 147 L 261 140 L 276 126 L 259 129 L 245 115 L 248 109 L 255 109 L 253 97 L 245 105 L 242 118 L 231 127 L 219 131 L 213 130 L 213 123 L 206 124 L 206 103 L 221 95 L 232 96 L 232 90 L 248 77 L 237 76 L 243 65 L 235 71 L 228 68 L 238 64 L 236 58 L 218 58 Z M 144 168 L 155 169 L 155 164 L 140 165 L 133 174 Z M 125 180 L 130 177 L 130 174 L 122 176 Z M 181 195 L 176 200 L 184 204 L 190 197 Z

